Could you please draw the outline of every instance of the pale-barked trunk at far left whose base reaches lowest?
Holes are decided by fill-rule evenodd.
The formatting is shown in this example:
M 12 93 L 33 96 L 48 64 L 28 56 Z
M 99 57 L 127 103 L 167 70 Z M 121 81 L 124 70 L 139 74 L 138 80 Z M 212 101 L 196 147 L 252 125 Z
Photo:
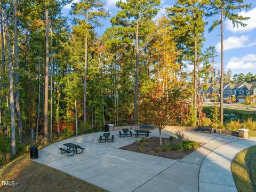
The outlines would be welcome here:
M 9 60 L 9 86 L 10 86 L 10 116 L 11 116 L 11 147 L 12 155 L 16 155 L 15 147 L 15 114 L 14 114 L 14 93 L 13 93 L 13 67 L 12 67 L 12 53 L 11 53 L 11 38 L 8 32 L 8 25 L 6 23 L 6 35 L 7 35 L 7 50 Z

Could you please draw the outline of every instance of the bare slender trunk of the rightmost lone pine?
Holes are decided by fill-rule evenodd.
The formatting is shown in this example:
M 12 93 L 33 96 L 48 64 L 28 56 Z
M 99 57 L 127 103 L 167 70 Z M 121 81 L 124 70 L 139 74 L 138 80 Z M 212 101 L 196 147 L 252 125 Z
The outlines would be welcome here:
M 220 75 L 220 123 L 223 124 L 223 78 L 224 78 L 224 68 L 223 68 L 223 11 L 224 7 L 222 5 L 221 10 L 221 27 L 220 27 L 220 38 L 221 38 L 221 75 Z

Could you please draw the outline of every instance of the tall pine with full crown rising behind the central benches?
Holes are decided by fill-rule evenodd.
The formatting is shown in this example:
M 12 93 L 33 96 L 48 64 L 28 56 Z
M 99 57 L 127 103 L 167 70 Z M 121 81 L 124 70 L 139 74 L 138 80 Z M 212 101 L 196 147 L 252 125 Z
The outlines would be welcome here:
M 121 9 L 115 17 L 111 18 L 111 23 L 115 26 L 127 28 L 127 32 L 132 34 L 135 41 L 136 51 L 136 68 L 135 68 L 135 93 L 133 108 L 133 125 L 136 124 L 137 116 L 137 98 L 139 85 L 139 44 L 143 35 L 146 35 L 147 25 L 155 17 L 159 10 L 159 0 L 127 0 L 126 2 L 118 1 L 116 6 Z

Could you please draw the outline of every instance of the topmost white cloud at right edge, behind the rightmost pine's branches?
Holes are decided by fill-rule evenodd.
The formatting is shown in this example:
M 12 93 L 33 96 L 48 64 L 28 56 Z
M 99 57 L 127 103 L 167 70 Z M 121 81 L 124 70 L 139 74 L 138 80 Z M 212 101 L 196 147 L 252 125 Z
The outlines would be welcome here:
M 246 27 L 233 27 L 233 23 L 230 20 L 226 20 L 226 29 L 229 31 L 232 31 L 233 33 L 243 33 L 247 31 L 252 31 L 253 29 L 256 29 L 256 7 L 254 9 L 251 9 L 247 12 L 241 11 L 238 13 L 238 15 L 242 15 L 243 17 L 250 17 L 249 20 L 243 21 L 247 24 Z

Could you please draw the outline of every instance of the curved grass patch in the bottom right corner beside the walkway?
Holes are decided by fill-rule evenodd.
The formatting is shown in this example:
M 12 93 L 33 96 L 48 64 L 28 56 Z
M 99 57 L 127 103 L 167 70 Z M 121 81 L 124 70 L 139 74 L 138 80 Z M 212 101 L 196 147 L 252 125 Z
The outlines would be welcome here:
M 241 151 L 231 164 L 238 191 L 256 191 L 256 146 Z

